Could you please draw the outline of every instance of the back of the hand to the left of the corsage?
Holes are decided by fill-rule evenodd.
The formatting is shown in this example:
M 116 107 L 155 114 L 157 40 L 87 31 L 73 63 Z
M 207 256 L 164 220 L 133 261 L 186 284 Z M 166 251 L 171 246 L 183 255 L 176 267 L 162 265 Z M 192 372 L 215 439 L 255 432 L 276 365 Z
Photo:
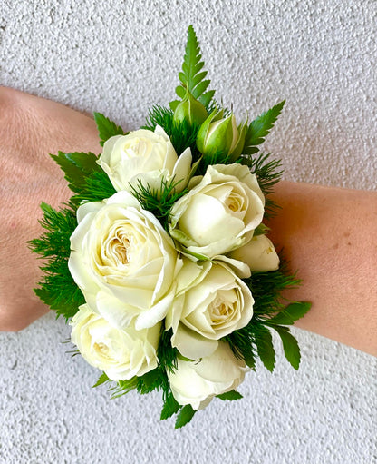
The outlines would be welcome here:
M 42 201 L 70 198 L 63 173 L 48 153 L 100 153 L 97 129 L 84 114 L 0 87 L 0 331 L 18 331 L 47 307 L 34 295 L 41 261 L 26 242 L 39 236 Z

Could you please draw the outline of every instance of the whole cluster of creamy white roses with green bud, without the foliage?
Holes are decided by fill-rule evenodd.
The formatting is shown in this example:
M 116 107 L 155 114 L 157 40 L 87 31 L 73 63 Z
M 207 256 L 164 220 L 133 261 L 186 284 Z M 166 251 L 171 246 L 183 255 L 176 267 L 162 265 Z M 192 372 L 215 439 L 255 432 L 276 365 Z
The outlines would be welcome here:
M 233 114 L 210 114 L 198 149 L 204 155 L 223 143 L 235 153 L 244 132 Z M 161 333 L 170 330 L 178 358 L 169 387 L 179 405 L 203 408 L 235 390 L 247 370 L 223 340 L 253 317 L 244 279 L 279 266 L 272 242 L 256 232 L 265 197 L 239 163 L 195 175 L 191 150 L 178 156 L 160 126 L 111 137 L 98 163 L 116 193 L 77 210 L 69 270 L 85 304 L 71 322 L 72 341 L 109 379 L 130 380 L 156 369 Z M 164 228 L 134 193 L 167 183 L 180 195 Z

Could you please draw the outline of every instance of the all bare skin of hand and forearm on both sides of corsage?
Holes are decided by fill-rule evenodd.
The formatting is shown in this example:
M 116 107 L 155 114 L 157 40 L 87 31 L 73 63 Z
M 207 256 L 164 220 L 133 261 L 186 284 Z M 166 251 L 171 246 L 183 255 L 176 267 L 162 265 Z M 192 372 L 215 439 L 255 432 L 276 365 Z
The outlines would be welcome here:
M 43 232 L 40 202 L 70 197 L 47 153 L 102 149 L 92 118 L 5 87 L 0 120 L 0 331 L 19 331 L 48 311 L 26 246 Z M 297 327 L 377 355 L 377 193 L 281 182 L 274 197 L 282 211 L 270 238 L 304 280 L 285 298 L 313 303 Z

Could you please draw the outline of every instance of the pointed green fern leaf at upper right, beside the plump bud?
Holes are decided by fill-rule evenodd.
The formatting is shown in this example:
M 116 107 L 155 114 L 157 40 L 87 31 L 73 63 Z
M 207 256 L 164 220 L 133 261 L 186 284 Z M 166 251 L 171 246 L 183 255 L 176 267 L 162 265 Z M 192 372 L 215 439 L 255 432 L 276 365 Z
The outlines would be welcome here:
M 244 154 L 253 154 L 259 151 L 256 148 L 256 145 L 265 142 L 266 135 L 274 127 L 278 115 L 281 113 L 285 100 L 279 104 L 275 104 L 270 110 L 266 113 L 258 116 L 247 129 L 247 134 L 245 137 L 245 145 L 242 153 Z

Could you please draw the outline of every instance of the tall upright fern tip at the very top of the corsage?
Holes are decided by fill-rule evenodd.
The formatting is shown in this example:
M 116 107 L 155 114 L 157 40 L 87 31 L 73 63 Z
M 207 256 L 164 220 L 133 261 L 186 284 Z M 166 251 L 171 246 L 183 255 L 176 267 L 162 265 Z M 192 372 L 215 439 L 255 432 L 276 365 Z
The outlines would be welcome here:
M 183 99 L 186 95 L 186 89 L 188 89 L 194 98 L 208 107 L 215 91 L 206 92 L 210 81 L 205 79 L 208 73 L 202 71 L 204 62 L 200 60 L 201 54 L 197 35 L 192 25 L 189 25 L 186 54 L 182 64 L 182 72 L 179 73 L 180 85 L 176 88 L 176 93 L 180 99 Z M 171 102 L 170 107 L 175 110 L 177 105 L 178 102 L 174 101 Z

